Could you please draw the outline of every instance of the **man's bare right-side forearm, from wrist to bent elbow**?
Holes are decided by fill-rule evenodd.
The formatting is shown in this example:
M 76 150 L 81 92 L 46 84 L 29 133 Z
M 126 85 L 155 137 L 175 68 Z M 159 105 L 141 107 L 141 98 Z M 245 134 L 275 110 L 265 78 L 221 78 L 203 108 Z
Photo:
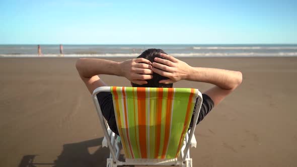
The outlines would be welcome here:
M 207 82 L 221 89 L 235 89 L 242 82 L 242 73 L 217 68 L 191 67 L 187 80 Z

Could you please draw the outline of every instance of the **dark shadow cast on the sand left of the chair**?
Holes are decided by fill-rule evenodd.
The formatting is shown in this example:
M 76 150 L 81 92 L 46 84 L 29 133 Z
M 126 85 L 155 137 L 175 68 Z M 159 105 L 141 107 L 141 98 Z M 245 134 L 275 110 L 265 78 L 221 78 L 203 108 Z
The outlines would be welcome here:
M 38 155 L 23 156 L 19 167 L 34 167 L 42 165 L 52 165 L 53 167 L 73 166 L 73 167 L 95 167 L 106 166 L 106 158 L 109 157 L 109 149 L 102 148 L 102 138 L 82 141 L 78 143 L 69 143 L 63 145 L 63 150 L 54 163 L 34 162 Z M 89 152 L 90 147 L 99 147 L 94 153 Z

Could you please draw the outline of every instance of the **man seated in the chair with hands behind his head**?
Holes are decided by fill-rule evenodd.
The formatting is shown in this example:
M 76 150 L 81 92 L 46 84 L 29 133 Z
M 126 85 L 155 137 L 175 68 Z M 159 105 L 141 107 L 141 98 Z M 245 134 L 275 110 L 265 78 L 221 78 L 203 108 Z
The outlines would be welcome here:
M 91 94 L 96 88 L 107 86 L 98 76 L 100 74 L 124 76 L 133 87 L 172 88 L 174 82 L 183 79 L 213 84 L 213 88 L 202 94 L 203 103 L 197 124 L 242 82 L 239 71 L 191 67 L 161 49 L 147 49 L 137 58 L 122 62 L 80 58 L 76 67 Z M 110 129 L 118 134 L 111 93 L 99 93 L 97 98 Z M 190 127 L 192 124 L 191 120 Z

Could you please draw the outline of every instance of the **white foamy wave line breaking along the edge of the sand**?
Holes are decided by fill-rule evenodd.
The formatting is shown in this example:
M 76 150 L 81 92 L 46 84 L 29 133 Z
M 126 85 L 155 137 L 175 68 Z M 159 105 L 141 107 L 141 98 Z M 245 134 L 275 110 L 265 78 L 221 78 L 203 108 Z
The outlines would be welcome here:
M 140 53 L 115 53 L 115 54 L 0 54 L 0 57 L 137 57 Z M 288 57 L 297 56 L 297 52 L 278 52 L 278 53 L 170 53 L 174 57 Z

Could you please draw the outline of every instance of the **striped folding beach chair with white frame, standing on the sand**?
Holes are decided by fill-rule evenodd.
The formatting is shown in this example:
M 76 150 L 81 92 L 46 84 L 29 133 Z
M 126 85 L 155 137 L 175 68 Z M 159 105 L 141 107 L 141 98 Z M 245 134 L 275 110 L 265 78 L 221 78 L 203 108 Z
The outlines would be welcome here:
M 97 94 L 111 92 L 119 136 L 102 115 Z M 197 99 L 198 98 L 198 99 Z M 190 88 L 100 87 L 93 100 L 104 132 L 102 146 L 108 146 L 108 167 L 117 165 L 192 166 L 189 147 L 196 147 L 195 126 L 189 124 L 195 102 L 196 125 L 202 95 Z M 119 160 L 123 148 L 125 159 Z

